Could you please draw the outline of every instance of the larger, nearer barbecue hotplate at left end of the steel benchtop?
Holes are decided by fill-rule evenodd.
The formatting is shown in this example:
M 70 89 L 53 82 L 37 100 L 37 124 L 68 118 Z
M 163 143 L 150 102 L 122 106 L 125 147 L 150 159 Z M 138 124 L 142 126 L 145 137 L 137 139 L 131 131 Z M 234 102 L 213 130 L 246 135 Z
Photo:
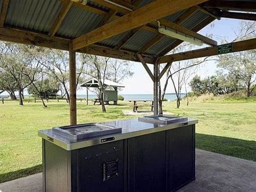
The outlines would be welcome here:
M 55 133 L 59 133 L 75 141 L 89 139 L 92 137 L 113 135 L 122 132 L 122 128 L 99 123 L 87 123 L 63 127 L 54 127 L 52 128 L 52 130 Z

